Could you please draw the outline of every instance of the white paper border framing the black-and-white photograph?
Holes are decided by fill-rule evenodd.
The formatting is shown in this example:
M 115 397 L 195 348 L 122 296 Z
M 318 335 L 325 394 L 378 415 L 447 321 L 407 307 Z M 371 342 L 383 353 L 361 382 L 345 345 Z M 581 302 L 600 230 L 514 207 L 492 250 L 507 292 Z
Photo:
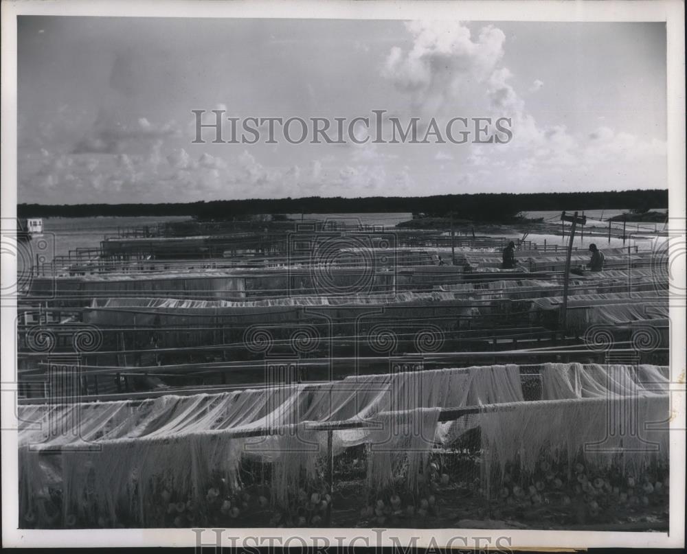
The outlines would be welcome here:
M 679 0 L 655 1 L 587 1 L 561 2 L 552 0 L 503 1 L 343 1 L 319 2 L 300 0 L 276 1 L 190 1 L 190 0 L 24 0 L 3 1 L 1 4 L 1 218 L 16 218 L 16 115 L 17 57 L 16 16 L 131 16 L 131 17 L 231 17 L 270 19 L 461 19 L 464 21 L 666 21 L 667 43 L 667 135 L 668 189 L 671 230 L 684 233 L 685 212 L 685 73 L 684 73 L 684 3 Z M 430 15 L 431 14 L 431 15 Z M 682 257 L 673 260 L 671 270 L 685 275 L 684 247 Z M 2 281 L 16 277 L 16 260 L 2 256 Z M 682 303 L 682 306 L 680 305 Z M 673 389 L 671 426 L 671 496 L 670 531 L 668 533 L 619 533 L 590 531 L 521 531 L 485 529 L 388 529 L 384 533 L 372 529 L 230 529 L 225 538 L 272 536 L 300 537 L 293 546 L 330 544 L 348 546 L 358 538 L 358 546 L 398 546 L 419 537 L 418 547 L 442 546 L 454 537 L 482 544 L 491 536 L 508 537 L 504 549 L 518 547 L 561 549 L 588 547 L 679 547 L 684 546 L 685 490 L 685 310 L 684 300 L 671 298 L 671 372 Z M 12 428 L 16 423 L 16 305 L 1 308 L 2 369 L 1 426 Z M 2 541 L 3 546 L 195 546 L 196 533 L 189 529 L 97 529 L 97 530 L 31 530 L 16 529 L 18 522 L 18 460 L 16 432 L 2 432 Z M 368 542 L 365 542 L 365 539 Z M 398 540 L 397 544 L 391 538 Z M 343 542 L 342 542 L 343 538 Z M 210 540 L 206 531 L 203 542 Z M 432 542 L 433 541 L 433 542 Z M 239 540 L 237 544 L 242 544 Z M 254 543 L 248 542 L 251 546 Z M 278 544 L 278 543 L 277 543 Z M 230 546 L 227 539 L 225 546 Z M 466 548 L 454 540 L 455 548 Z

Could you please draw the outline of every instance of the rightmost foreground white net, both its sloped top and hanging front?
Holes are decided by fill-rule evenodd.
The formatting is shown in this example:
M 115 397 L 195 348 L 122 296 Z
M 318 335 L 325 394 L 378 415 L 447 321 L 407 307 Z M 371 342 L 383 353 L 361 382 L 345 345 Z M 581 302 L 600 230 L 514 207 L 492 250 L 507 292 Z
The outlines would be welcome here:
M 499 473 L 515 460 L 532 471 L 542 452 L 568 465 L 583 454 L 597 468 L 634 472 L 667 460 L 668 432 L 648 428 L 668 416 L 667 367 L 548 363 L 541 368 L 541 398 L 476 417 Z

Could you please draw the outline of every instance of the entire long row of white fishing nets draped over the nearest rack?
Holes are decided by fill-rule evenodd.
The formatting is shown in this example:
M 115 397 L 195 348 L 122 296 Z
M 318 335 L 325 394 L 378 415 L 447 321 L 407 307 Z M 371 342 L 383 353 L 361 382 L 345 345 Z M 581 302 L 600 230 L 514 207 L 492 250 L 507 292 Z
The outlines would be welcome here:
M 488 465 L 517 461 L 527 470 L 542 450 L 572 459 L 583 445 L 603 443 L 609 403 L 599 400 L 605 395 L 618 402 L 631 395 L 637 407 L 631 415 L 618 411 L 621 419 L 637 415 L 642 422 L 660 422 L 668 413 L 663 367 L 545 365 L 541 385 L 543 401 L 525 402 L 521 369 L 495 365 L 142 402 L 21 406 L 21 510 L 49 520 L 36 500 L 60 487 L 63 517 L 95 512 L 114 520 L 125 512 L 137 524 L 154 525 L 159 522 L 150 498 L 162 489 L 198 496 L 214 478 L 236 488 L 240 467 L 250 460 L 271 465 L 273 500 L 283 503 L 299 483 L 314 481 L 322 470 L 328 434 L 313 424 L 357 426 L 334 430 L 332 452 L 337 456 L 368 445 L 370 489 L 399 476 L 413 489 L 429 450 L 475 427 Z M 465 406 L 489 411 L 440 422 L 442 409 Z M 654 435 L 659 450 L 623 455 L 622 463 L 636 467 L 665 456 L 667 434 Z M 622 436 L 625 448 L 640 443 Z M 609 444 L 618 447 L 617 440 Z M 613 460 L 589 452 L 585 456 L 593 463 Z

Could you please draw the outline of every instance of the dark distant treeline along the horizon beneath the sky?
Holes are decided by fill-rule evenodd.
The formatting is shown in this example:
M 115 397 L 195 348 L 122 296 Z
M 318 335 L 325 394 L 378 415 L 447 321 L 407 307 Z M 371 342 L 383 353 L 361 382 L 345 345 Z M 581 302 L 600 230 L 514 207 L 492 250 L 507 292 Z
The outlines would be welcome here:
M 231 220 L 257 213 L 411 212 L 440 217 L 453 213 L 473 221 L 504 221 L 521 211 L 565 209 L 667 208 L 668 190 L 559 192 L 534 194 L 444 194 L 441 196 L 372 196 L 369 198 L 265 198 L 164 204 L 20 204 L 19 217 L 82 218 L 95 216 L 193 216 Z

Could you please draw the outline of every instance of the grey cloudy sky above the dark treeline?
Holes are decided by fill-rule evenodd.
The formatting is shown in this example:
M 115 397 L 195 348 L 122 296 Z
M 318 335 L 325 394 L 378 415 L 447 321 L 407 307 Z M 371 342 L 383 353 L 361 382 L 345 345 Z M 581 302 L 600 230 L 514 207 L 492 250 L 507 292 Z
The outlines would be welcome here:
M 667 187 L 664 23 L 20 16 L 18 30 L 20 203 Z M 196 144 L 194 109 L 510 117 L 513 139 Z

